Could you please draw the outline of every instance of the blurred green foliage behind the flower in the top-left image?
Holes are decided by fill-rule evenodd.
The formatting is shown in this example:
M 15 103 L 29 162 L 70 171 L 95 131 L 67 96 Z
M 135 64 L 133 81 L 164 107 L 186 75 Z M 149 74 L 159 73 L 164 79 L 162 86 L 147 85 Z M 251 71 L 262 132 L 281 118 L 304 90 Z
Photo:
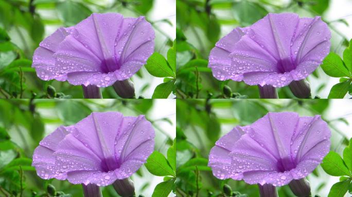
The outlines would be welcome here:
M 80 86 L 40 80 L 31 68 L 31 60 L 34 50 L 48 35 L 46 32 L 54 32 L 60 26 L 76 25 L 93 12 L 119 12 L 126 17 L 145 15 L 158 35 L 155 51 L 166 56 L 168 48 L 173 45 L 173 39 L 158 26 L 160 23 L 172 26 L 172 23 L 168 18 L 150 21 L 149 13 L 153 6 L 153 0 L 0 0 L 0 98 L 82 98 Z M 136 77 L 142 79 L 146 75 L 148 72 L 145 69 L 136 73 Z M 168 83 L 166 88 L 160 87 L 154 97 L 167 97 L 174 91 L 174 77 L 171 81 L 173 83 Z M 49 85 L 58 94 L 50 95 L 47 91 Z M 136 92 L 137 97 L 143 95 L 149 86 L 150 82 L 146 78 L 144 87 Z M 167 95 L 165 91 L 168 92 Z M 160 92 L 164 94 L 161 95 Z M 104 98 L 118 97 L 112 87 L 102 88 L 102 95 Z

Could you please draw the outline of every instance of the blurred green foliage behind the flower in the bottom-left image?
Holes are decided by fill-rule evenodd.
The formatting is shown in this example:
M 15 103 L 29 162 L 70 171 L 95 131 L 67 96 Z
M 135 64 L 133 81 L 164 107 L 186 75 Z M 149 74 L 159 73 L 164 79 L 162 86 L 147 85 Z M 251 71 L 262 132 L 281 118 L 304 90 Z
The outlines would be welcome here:
M 168 117 L 150 119 L 151 109 L 156 103 L 147 99 L 0 100 L 0 196 L 53 196 L 50 195 L 53 189 L 57 196 L 82 196 L 81 185 L 39 178 L 31 166 L 32 154 L 44 136 L 60 125 L 77 123 L 92 111 L 119 111 L 134 116 L 145 114 L 155 128 L 155 150 L 167 155 L 168 165 L 174 166 L 172 161 L 175 161 L 175 154 L 171 153 L 174 149 L 173 139 L 159 126 L 160 122 L 172 122 Z M 164 156 L 160 152 L 158 153 Z M 135 183 L 137 188 L 142 188 L 136 193 L 151 196 L 152 193 L 147 192 L 154 189 L 148 189 L 151 187 L 151 173 L 142 166 L 133 176 L 138 177 L 139 181 Z M 174 181 L 174 175 L 170 180 Z M 173 182 L 169 185 L 171 189 L 174 187 Z M 112 186 L 103 187 L 102 193 L 103 196 L 118 196 Z

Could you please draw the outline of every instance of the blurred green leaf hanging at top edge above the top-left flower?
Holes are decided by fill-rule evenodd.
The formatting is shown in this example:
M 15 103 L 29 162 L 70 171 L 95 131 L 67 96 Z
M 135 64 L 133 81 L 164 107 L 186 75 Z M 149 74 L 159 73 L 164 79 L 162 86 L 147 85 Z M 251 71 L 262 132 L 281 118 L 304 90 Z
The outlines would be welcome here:
M 66 27 L 76 25 L 92 14 L 83 4 L 69 0 L 58 3 L 56 8 Z

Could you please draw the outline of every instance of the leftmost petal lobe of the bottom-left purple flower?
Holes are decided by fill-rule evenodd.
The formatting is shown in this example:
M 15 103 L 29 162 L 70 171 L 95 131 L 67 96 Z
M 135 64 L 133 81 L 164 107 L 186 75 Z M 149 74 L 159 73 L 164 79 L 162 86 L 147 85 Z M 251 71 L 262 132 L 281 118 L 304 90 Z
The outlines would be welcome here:
M 37 170 L 37 174 L 42 179 L 52 179 L 56 178 L 59 180 L 66 179 L 65 173 L 55 173 L 55 157 L 53 155 L 54 151 L 57 149 L 58 144 L 64 137 L 72 132 L 71 127 L 59 127 L 54 132 L 46 136 L 33 152 L 33 162 Z

